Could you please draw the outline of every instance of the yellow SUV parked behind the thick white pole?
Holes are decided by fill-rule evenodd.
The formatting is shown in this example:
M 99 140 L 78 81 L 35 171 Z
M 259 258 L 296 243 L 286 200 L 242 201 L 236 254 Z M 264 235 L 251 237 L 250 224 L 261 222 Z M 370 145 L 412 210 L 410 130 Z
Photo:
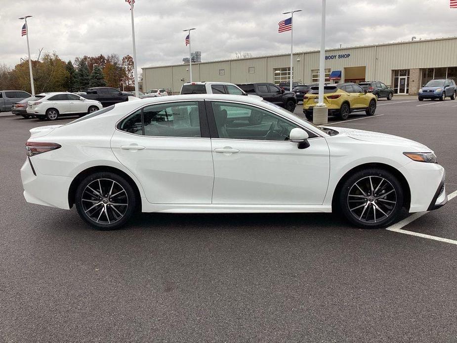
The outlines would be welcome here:
M 303 113 L 308 120 L 313 120 L 318 93 L 319 86 L 312 86 L 303 97 Z M 365 111 L 368 116 L 373 116 L 376 111 L 376 97 L 353 83 L 324 86 L 324 103 L 329 108 L 329 115 L 342 120 L 346 120 L 352 112 Z

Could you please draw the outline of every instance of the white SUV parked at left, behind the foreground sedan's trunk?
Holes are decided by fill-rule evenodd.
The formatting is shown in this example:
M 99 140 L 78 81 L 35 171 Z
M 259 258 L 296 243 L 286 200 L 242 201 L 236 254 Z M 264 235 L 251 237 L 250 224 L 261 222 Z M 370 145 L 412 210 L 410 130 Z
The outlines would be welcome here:
M 29 101 L 27 113 L 40 120 L 56 120 L 59 117 L 86 115 L 102 109 L 100 101 L 83 98 L 68 92 L 42 93 L 37 101 Z

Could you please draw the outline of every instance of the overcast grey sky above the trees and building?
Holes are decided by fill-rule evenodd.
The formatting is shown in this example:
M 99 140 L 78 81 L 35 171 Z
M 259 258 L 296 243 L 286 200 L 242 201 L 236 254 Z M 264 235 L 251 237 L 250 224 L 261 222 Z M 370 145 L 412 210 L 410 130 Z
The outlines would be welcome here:
M 375 2 L 375 3 L 374 3 Z M 293 8 L 291 6 L 293 5 Z M 125 0 L 0 0 L 0 64 L 13 67 L 27 56 L 23 22 L 29 23 L 32 59 L 38 49 L 76 56 L 131 54 L 131 23 Z M 282 12 L 294 16 L 294 51 L 317 49 L 321 0 L 136 0 L 138 68 L 182 63 L 188 56 L 183 29 L 202 61 L 288 53 L 290 32 L 279 34 Z M 328 48 L 456 36 L 457 9 L 449 0 L 327 0 Z

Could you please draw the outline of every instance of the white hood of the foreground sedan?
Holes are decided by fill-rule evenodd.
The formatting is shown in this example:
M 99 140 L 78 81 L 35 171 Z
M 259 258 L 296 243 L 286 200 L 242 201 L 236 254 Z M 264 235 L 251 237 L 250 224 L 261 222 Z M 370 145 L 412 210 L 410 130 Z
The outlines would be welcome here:
M 373 131 L 365 131 L 365 130 L 357 130 L 357 129 L 346 129 L 346 128 L 336 128 L 336 127 L 328 127 L 335 131 L 338 131 L 339 134 L 351 137 L 357 140 L 363 140 L 366 142 L 377 142 L 377 143 L 384 143 L 384 144 L 393 144 L 397 146 L 404 146 L 408 147 L 411 150 L 415 150 L 416 152 L 433 152 L 427 146 L 416 142 L 414 140 L 403 138 L 399 136 L 394 136 L 387 133 L 380 133 L 380 132 L 373 132 Z

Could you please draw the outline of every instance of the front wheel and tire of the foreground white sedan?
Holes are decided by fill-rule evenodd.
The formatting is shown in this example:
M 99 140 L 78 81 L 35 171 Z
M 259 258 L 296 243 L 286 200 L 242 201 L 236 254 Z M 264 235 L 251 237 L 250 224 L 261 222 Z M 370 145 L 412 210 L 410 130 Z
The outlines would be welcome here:
M 398 218 L 403 199 L 403 188 L 394 174 L 370 168 L 355 172 L 344 181 L 338 203 L 352 224 L 374 229 L 388 226 Z

